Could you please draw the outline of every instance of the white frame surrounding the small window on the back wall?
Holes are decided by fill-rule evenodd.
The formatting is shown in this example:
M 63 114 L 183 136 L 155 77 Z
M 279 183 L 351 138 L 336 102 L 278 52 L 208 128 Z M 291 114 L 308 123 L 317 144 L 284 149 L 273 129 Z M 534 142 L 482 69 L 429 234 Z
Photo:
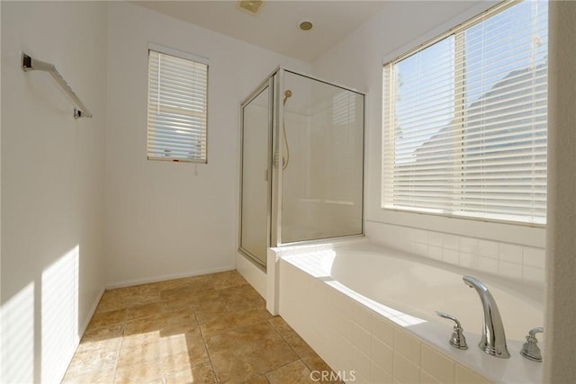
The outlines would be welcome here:
M 183 158 L 183 157 L 173 157 L 173 156 L 150 156 L 148 151 L 148 142 L 149 142 L 149 121 L 148 121 L 148 113 L 149 113 L 149 76 L 150 76 L 150 51 L 157 52 L 159 54 L 172 56 L 175 58 L 181 58 L 188 61 L 193 61 L 197 64 L 202 64 L 206 67 L 206 92 L 205 92 L 205 116 L 203 118 L 206 121 L 205 129 L 204 129 L 204 148 L 203 151 L 201 149 L 201 153 L 203 152 L 203 157 L 197 158 Z M 208 164 L 208 127 L 209 127 L 209 94 L 210 94 L 210 60 L 208 58 L 203 58 L 202 56 L 194 55 L 192 53 L 186 52 L 180 49 L 174 49 L 170 47 L 166 47 L 164 45 L 160 45 L 153 42 L 148 42 L 148 47 L 146 50 L 146 57 L 147 57 L 147 72 L 146 72 L 146 79 L 147 79 L 147 97 L 146 97 L 146 158 L 147 160 L 155 160 L 155 161 L 167 161 L 172 163 L 191 163 L 191 164 Z

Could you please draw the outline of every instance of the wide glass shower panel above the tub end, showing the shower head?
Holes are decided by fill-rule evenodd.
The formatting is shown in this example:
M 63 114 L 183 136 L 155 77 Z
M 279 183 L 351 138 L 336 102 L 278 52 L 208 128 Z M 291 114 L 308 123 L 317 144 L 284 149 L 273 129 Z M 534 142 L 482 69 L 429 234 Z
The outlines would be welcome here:
M 362 235 L 364 94 L 284 71 L 281 243 Z

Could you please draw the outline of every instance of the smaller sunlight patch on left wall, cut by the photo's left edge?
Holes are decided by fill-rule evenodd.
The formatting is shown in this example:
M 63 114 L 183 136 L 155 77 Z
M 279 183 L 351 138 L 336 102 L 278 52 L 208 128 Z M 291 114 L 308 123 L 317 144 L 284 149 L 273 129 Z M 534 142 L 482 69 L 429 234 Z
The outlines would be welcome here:
M 34 381 L 34 282 L 6 301 L 2 317 L 2 382 Z

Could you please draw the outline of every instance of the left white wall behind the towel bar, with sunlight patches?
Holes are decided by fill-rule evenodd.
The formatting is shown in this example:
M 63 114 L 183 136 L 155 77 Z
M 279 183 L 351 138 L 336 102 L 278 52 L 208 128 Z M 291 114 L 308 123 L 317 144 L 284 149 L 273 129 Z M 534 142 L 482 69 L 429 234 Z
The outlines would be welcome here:
M 2 2 L 2 382 L 61 380 L 103 290 L 106 5 Z M 94 112 L 22 51 L 54 63 Z

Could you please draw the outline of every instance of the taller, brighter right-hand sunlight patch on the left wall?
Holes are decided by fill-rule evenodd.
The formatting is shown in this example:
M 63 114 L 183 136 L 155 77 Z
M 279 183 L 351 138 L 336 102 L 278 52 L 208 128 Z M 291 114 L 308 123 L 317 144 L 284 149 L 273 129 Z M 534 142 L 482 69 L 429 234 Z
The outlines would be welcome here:
M 42 381 L 59 381 L 78 342 L 78 255 L 75 246 L 42 272 Z

